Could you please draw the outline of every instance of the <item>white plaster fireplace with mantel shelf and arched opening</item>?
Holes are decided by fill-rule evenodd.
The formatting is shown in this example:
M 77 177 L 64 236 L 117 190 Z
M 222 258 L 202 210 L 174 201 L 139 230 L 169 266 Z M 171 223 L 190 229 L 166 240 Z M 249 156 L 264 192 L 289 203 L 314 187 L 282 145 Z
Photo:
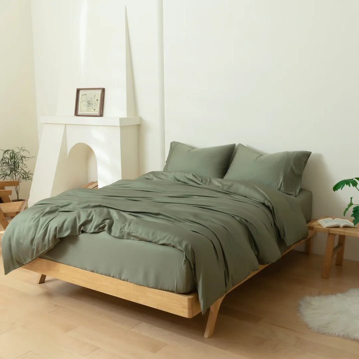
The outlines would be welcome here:
M 39 120 L 42 136 L 29 205 L 86 184 L 88 147 L 96 157 L 99 187 L 139 176 L 141 117 L 41 116 Z

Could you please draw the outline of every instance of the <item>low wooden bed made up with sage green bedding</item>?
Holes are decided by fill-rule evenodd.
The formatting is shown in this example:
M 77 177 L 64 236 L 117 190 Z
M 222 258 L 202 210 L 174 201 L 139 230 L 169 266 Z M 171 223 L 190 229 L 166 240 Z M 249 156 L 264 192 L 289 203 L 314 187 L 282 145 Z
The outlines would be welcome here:
M 212 173 L 203 151 L 191 163 L 173 147 L 163 172 L 66 191 L 16 216 L 1 242 L 5 274 L 23 266 L 38 283 L 48 275 L 187 318 L 209 309 L 210 337 L 228 292 L 304 240 L 310 251 L 312 196 L 298 183 L 293 196 L 226 178 L 234 145 L 214 168 L 218 149 L 207 151 Z M 183 171 L 198 161 L 202 174 Z

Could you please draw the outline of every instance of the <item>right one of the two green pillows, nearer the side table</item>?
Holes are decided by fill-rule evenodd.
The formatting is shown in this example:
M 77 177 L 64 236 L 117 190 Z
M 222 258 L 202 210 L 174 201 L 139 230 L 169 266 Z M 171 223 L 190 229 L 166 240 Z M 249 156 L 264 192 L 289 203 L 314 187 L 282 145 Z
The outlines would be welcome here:
M 224 179 L 262 183 L 296 196 L 310 155 L 308 151 L 262 155 L 239 144 Z

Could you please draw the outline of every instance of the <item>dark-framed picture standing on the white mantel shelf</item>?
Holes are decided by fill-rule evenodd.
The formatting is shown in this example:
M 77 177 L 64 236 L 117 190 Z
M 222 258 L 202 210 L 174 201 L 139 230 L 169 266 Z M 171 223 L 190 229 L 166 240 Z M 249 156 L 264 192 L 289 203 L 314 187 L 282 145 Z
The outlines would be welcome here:
M 105 89 L 76 89 L 75 116 L 102 116 Z

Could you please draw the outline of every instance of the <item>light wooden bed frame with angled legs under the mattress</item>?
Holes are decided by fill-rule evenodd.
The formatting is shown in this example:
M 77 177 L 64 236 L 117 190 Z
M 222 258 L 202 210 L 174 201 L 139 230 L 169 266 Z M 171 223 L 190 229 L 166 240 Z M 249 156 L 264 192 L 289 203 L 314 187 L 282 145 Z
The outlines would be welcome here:
M 311 254 L 313 235 L 314 231 L 310 230 L 307 238 L 295 243 L 287 251 L 285 251 L 282 256 L 304 241 L 306 241 L 306 253 Z M 244 283 L 247 279 L 253 277 L 268 265 L 269 264 L 260 265 L 258 270 L 253 271 L 248 277 L 231 288 L 227 293 Z M 178 294 L 148 288 L 43 258 L 36 258 L 30 263 L 25 264 L 23 268 L 39 273 L 37 280 L 38 284 L 43 283 L 46 276 L 50 276 L 135 303 L 160 309 L 165 312 L 177 314 L 185 318 L 192 318 L 201 312 L 197 292 L 190 294 Z M 210 306 L 204 338 L 209 338 L 213 334 L 219 307 L 227 293 Z

